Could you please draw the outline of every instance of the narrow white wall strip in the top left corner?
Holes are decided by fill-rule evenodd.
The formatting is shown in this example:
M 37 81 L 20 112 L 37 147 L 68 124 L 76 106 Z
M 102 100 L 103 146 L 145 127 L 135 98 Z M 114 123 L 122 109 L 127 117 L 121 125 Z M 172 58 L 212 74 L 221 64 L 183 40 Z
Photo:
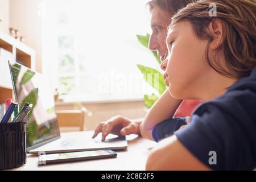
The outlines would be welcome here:
M 9 0 L 0 0 L 0 30 L 9 34 Z

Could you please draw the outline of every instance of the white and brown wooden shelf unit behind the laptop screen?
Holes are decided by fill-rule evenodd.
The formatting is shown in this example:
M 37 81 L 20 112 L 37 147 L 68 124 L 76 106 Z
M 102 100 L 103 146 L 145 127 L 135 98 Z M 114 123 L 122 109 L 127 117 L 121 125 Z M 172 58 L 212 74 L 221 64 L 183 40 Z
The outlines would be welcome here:
M 34 49 L 28 47 L 26 44 L 14 39 L 12 36 L 7 35 L 2 31 L 0 31 L 0 48 L 12 53 L 11 61 L 18 60 L 19 63 L 26 65 L 26 67 L 31 68 L 32 70 L 35 70 Z M 0 77 L 5 77 L 5 75 L 0 72 Z M 10 85 L 6 86 L 2 84 L 0 81 L 0 104 L 4 103 L 8 97 L 15 100 L 13 88 Z

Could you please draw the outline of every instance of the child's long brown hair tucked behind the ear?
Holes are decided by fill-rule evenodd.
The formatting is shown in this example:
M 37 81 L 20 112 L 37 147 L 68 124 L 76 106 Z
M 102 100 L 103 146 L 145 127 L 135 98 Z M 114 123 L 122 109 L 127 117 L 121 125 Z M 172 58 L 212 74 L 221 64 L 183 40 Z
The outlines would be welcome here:
M 214 3 L 217 16 L 210 16 Z M 224 27 L 221 49 L 225 63 L 209 59 L 209 24 L 220 19 Z M 201 40 L 209 40 L 206 49 L 207 63 L 221 75 L 242 78 L 250 75 L 256 66 L 256 0 L 200 0 L 189 4 L 172 18 L 170 28 L 179 22 L 191 23 L 193 32 Z

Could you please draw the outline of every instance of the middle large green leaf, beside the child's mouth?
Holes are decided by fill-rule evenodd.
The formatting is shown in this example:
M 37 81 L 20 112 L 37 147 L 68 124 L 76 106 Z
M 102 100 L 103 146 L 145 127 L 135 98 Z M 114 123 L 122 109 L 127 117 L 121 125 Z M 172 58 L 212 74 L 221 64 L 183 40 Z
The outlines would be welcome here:
M 166 90 L 166 83 L 164 81 L 162 73 L 156 69 L 145 67 L 144 65 L 137 64 L 139 70 L 141 70 L 144 80 L 148 82 L 159 94 L 162 94 Z

